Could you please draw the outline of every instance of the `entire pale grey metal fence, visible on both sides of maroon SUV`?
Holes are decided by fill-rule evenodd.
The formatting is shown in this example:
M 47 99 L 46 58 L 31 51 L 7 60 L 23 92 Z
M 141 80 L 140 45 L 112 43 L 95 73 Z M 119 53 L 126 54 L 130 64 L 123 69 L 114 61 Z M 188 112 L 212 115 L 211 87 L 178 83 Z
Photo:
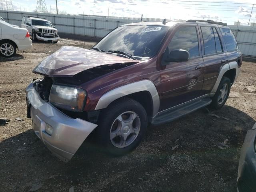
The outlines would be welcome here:
M 123 24 L 140 22 L 139 18 L 100 18 L 94 16 L 56 15 L 4 10 L 0 10 L 0 16 L 8 23 L 18 26 L 20 26 L 23 16 L 43 17 L 51 21 L 58 29 L 58 32 L 94 37 L 104 37 L 112 29 Z M 256 26 L 230 25 L 229 27 L 237 38 L 238 46 L 242 54 L 245 57 L 256 58 Z

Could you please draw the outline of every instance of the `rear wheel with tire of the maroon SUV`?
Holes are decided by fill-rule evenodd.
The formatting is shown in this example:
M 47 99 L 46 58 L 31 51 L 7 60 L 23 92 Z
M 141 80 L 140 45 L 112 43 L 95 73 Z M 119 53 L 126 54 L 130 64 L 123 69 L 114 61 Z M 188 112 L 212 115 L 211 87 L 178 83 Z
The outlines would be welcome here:
M 220 109 L 222 108 L 222 106 L 224 106 L 224 104 L 226 103 L 226 100 L 228 99 L 230 87 L 231 87 L 230 79 L 227 77 L 222 77 L 222 80 L 220 81 L 216 94 L 213 96 L 212 103 L 210 104 L 210 107 L 212 109 Z

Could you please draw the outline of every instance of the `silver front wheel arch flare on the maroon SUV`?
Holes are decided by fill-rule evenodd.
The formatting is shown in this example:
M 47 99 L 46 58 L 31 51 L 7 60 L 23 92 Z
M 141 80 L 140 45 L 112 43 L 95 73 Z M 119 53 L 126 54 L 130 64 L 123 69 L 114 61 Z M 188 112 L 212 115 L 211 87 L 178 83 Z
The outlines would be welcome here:
M 98 101 L 95 110 L 107 108 L 111 103 L 123 97 L 132 98 L 142 104 L 148 116 L 154 116 L 159 110 L 158 92 L 150 80 L 133 82 L 106 92 Z

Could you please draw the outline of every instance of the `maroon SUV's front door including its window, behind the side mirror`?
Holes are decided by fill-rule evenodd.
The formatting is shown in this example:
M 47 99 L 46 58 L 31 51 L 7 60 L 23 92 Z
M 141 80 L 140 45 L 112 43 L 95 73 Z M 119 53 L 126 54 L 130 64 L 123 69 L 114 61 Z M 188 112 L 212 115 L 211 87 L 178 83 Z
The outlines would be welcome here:
M 204 61 L 197 24 L 178 28 L 166 52 L 187 50 L 187 62 L 170 62 L 160 70 L 160 111 L 182 104 L 201 95 Z M 165 52 L 165 54 L 166 54 Z M 163 62 L 163 61 L 162 61 Z

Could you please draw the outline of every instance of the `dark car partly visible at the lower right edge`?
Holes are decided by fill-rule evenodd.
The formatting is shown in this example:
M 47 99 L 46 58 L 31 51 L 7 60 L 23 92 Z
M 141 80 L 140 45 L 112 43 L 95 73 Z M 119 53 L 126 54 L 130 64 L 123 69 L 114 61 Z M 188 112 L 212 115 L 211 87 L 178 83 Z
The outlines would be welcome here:
M 256 124 L 248 130 L 241 149 L 237 188 L 239 192 L 256 191 L 256 152 L 255 152 Z

